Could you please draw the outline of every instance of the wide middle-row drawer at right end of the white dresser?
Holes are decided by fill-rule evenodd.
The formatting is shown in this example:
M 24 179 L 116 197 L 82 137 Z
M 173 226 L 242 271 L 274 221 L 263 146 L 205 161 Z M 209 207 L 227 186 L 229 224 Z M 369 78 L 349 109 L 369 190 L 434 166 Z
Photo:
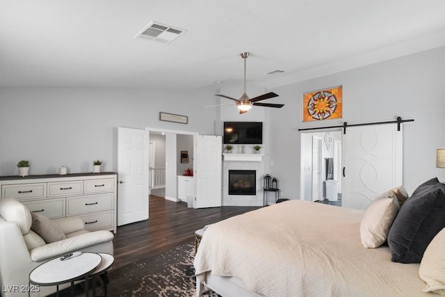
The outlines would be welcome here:
M 67 198 L 67 216 L 87 214 L 114 208 L 114 193 Z

